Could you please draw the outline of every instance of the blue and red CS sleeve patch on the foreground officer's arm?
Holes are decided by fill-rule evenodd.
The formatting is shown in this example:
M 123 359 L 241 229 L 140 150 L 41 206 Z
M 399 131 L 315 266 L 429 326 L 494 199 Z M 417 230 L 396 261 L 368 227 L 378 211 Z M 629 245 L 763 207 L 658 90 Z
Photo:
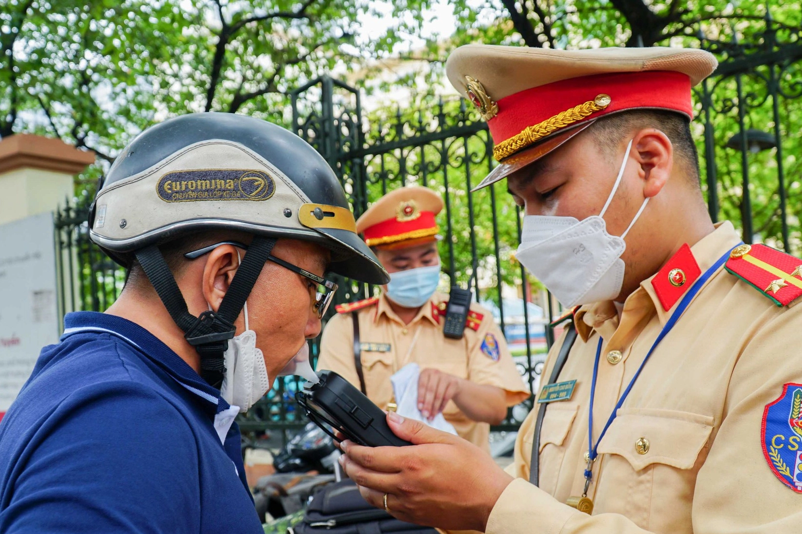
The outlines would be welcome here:
M 763 454 L 780 482 L 802 493 L 802 384 L 785 384 L 763 412 Z

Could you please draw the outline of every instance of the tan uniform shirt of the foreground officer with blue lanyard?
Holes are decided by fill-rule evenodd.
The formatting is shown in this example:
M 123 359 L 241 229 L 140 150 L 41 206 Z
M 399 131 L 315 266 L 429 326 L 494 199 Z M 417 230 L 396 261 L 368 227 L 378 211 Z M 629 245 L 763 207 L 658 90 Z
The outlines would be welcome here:
M 704 272 L 739 241 L 727 222 L 691 252 Z M 802 383 L 802 307 L 796 304 L 780 308 L 724 269 L 707 281 L 646 363 L 598 447 L 588 492 L 593 516 L 563 503 L 581 496 L 585 484 L 599 336 L 594 442 L 676 305 L 664 311 L 647 280 L 626 300 L 620 320 L 612 302 L 583 306 L 574 319 L 577 341 L 559 377 L 576 379 L 577 386 L 572 398 L 546 410 L 540 488 L 528 482 L 536 409 L 516 443 L 511 472 L 520 479 L 497 501 L 488 534 L 799 530 L 802 495 L 772 473 L 761 444 L 764 407 L 785 383 Z M 545 377 L 560 345 L 549 354 Z M 620 361 L 618 354 L 608 360 L 613 350 L 621 352 Z M 648 440 L 644 454 L 638 439 Z

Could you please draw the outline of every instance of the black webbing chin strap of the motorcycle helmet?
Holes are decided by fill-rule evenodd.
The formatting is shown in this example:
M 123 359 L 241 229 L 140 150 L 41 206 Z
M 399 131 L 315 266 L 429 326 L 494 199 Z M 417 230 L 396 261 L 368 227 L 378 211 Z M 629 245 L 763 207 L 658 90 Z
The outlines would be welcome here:
M 245 305 L 275 244 L 275 239 L 254 237 L 253 243 L 242 257 L 217 313 L 209 309 L 199 317 L 189 313 L 176 278 L 172 276 L 159 248 L 150 245 L 136 251 L 136 260 L 142 265 L 170 317 L 184 331 L 184 338 L 201 356 L 201 377 L 209 382 L 210 386 L 220 389 L 223 383 L 225 376 L 223 353 L 229 348 L 229 339 L 234 337 L 236 330 L 234 321 Z

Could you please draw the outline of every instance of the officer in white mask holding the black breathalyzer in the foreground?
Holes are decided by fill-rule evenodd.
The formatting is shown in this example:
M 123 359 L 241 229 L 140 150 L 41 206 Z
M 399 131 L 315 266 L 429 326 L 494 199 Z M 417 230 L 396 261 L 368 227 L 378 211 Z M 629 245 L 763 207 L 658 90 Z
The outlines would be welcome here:
M 507 179 L 516 258 L 578 308 L 508 472 L 390 414 L 415 447 L 344 444 L 371 503 L 490 534 L 799 529 L 802 260 L 707 214 L 689 121 L 715 66 L 657 47 L 452 54 L 500 163 L 480 187 Z

